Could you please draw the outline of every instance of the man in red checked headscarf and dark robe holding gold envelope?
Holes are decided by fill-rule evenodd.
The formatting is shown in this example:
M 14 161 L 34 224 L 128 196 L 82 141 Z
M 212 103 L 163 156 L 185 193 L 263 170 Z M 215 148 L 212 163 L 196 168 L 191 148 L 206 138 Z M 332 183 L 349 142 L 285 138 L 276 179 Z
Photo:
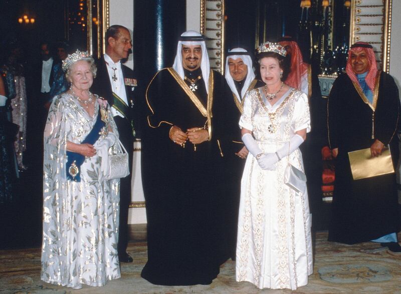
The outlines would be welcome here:
M 389 145 L 395 167 L 398 89 L 390 75 L 377 70 L 372 46 L 364 42 L 351 46 L 345 72 L 328 98 L 328 139 L 336 156 L 328 239 L 346 244 L 370 240 L 401 252 L 395 174 L 354 180 L 348 156 L 370 148 L 372 157 L 380 157 Z

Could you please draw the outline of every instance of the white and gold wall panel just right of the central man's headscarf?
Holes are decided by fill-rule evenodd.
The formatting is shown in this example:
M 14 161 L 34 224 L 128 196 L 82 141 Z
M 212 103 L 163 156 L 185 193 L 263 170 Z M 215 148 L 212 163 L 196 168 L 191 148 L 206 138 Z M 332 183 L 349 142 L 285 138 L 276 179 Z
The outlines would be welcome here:
M 224 72 L 224 0 L 201 0 L 200 33 L 209 38 L 211 69 Z

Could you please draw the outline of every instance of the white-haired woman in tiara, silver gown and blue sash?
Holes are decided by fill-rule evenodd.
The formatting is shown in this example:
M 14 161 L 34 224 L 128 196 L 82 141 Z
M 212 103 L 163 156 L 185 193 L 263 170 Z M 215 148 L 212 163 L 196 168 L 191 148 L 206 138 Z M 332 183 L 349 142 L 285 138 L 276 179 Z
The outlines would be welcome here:
M 89 92 L 94 60 L 76 51 L 63 61 L 70 89 L 55 96 L 44 134 L 42 273 L 73 288 L 120 277 L 119 179 L 106 180 L 117 128 L 107 102 Z

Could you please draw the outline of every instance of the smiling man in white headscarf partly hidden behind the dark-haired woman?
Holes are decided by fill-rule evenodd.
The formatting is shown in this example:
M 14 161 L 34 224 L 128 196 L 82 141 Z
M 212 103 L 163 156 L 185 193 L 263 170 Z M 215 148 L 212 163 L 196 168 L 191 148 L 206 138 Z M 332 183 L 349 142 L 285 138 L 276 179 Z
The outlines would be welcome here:
M 229 101 L 230 103 L 234 102 L 233 104 L 236 106 L 236 112 L 233 113 L 232 117 L 232 120 L 236 123 L 240 121 L 246 94 L 264 85 L 262 81 L 255 79 L 251 56 L 252 53 L 244 48 L 234 48 L 228 52 L 226 58 L 225 76 L 227 84 L 233 92 L 232 99 L 229 99 Z M 227 239 L 233 252 L 232 257 L 235 257 L 237 244 L 241 177 L 245 166 L 245 160 L 243 159 L 246 159 L 248 156 L 248 149 L 241 140 L 240 128 L 238 128 L 237 133 L 238 137 L 234 140 L 234 144 L 232 144 L 233 150 L 226 156 L 228 167 L 225 169 L 227 180 L 231 181 L 229 194 L 232 195 L 230 201 L 232 205 L 227 206 L 231 211 L 226 214 L 228 217 L 225 222 L 227 226 L 231 226 L 231 229 L 227 230 Z

